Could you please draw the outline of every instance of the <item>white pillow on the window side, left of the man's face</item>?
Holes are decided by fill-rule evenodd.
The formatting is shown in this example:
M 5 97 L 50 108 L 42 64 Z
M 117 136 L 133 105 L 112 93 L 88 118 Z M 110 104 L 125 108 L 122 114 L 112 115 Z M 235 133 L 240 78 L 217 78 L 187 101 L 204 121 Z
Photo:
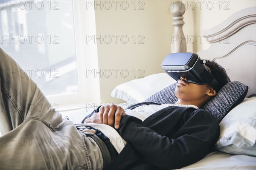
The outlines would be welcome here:
M 176 82 L 175 79 L 166 73 L 151 74 L 116 86 L 111 92 L 111 96 L 135 104 L 145 101 L 148 97 L 174 82 Z

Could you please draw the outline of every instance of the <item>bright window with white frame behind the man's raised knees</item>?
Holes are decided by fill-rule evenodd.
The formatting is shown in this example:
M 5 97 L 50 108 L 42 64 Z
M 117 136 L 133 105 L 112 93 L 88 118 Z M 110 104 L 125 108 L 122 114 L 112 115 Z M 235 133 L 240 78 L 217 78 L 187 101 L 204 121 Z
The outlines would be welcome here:
M 87 52 L 81 48 L 88 46 L 83 44 L 82 37 L 88 32 L 95 32 L 95 18 L 89 20 L 86 17 L 94 16 L 94 11 L 84 11 L 85 15 L 80 12 L 85 3 L 72 0 L 0 0 L 1 48 L 23 68 L 17 71 L 17 76 L 26 72 L 55 108 L 95 101 L 95 97 L 88 97 L 91 92 L 87 92 L 88 88 L 97 91 L 98 86 L 90 87 L 86 85 L 89 79 L 84 79 L 86 65 L 94 63 L 97 58 L 96 45 Z M 82 22 L 93 25 L 88 29 L 89 26 Z M 89 53 L 95 59 L 88 61 Z M 93 81 L 98 83 L 95 79 Z M 99 98 L 97 94 L 96 98 Z

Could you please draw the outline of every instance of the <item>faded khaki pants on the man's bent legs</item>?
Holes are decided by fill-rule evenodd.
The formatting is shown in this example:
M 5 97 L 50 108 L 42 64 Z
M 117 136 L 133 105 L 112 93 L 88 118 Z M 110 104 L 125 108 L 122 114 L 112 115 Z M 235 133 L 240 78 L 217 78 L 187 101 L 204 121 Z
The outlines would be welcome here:
M 99 146 L 55 112 L 0 48 L 0 169 L 103 169 Z

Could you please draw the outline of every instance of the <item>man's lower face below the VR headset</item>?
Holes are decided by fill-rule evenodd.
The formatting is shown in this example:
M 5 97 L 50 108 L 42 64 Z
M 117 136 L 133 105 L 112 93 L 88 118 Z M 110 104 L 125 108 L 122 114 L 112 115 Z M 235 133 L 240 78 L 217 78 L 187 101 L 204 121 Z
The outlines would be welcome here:
M 207 93 L 210 91 L 209 85 L 197 85 L 186 82 L 186 78 L 181 77 L 177 82 L 175 88 L 175 96 L 184 102 L 202 102 L 207 101 L 209 96 Z

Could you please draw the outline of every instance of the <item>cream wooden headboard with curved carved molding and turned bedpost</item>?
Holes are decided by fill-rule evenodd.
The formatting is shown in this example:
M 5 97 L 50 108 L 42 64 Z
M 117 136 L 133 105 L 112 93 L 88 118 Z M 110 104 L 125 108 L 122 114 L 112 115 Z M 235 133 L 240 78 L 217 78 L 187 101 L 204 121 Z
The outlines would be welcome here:
M 184 23 L 177 22 L 177 19 L 183 20 L 185 11 L 179 6 L 171 10 L 174 15 L 174 34 L 182 36 Z M 198 51 L 201 59 L 214 60 L 226 69 L 231 81 L 248 85 L 246 97 L 256 94 L 256 7 L 238 11 L 202 34 L 211 45 L 205 51 Z M 184 43 L 172 44 L 172 52 L 186 52 L 184 49 Z

